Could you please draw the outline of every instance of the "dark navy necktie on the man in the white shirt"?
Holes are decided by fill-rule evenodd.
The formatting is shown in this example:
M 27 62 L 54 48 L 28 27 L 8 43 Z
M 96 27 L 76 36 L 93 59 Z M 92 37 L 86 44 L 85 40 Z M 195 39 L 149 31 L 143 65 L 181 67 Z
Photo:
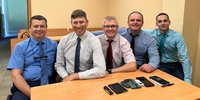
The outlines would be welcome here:
M 75 52 L 75 64 L 74 64 L 74 73 L 79 72 L 80 67 L 80 49 L 81 49 L 81 39 L 77 38 L 76 52 Z

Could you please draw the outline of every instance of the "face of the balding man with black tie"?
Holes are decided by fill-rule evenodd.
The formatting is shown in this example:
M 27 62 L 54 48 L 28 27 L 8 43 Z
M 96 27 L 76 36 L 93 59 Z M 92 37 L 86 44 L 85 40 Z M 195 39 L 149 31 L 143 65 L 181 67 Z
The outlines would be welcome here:
M 128 18 L 128 26 L 131 31 L 140 31 L 143 26 L 142 16 L 138 13 L 133 13 Z

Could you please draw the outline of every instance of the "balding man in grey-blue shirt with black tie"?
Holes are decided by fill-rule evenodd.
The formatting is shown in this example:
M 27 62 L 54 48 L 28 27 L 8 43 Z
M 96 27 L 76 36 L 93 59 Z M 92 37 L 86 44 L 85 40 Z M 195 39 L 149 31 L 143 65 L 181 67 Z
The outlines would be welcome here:
M 134 11 L 129 14 L 127 23 L 129 28 L 123 29 L 120 34 L 131 43 L 137 67 L 144 72 L 153 72 L 158 67 L 160 58 L 155 39 L 141 29 L 143 15 Z

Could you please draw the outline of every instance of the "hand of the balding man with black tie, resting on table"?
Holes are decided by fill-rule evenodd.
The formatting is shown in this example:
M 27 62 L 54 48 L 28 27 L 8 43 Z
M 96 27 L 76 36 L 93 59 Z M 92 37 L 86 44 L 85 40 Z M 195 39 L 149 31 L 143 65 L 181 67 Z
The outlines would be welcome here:
M 155 70 L 155 68 L 149 64 L 143 64 L 139 70 L 143 71 L 143 72 L 147 72 L 147 73 L 151 73 Z

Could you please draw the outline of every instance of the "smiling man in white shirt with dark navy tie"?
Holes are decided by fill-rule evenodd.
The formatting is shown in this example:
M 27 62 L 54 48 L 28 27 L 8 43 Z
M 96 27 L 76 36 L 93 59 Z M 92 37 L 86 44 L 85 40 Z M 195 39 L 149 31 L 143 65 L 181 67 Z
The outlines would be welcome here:
M 63 81 L 105 76 L 106 65 L 101 43 L 97 37 L 87 31 L 86 13 L 79 9 L 73 11 L 71 24 L 74 32 L 64 36 L 58 44 L 55 64 L 57 73 Z M 80 47 L 77 38 L 80 39 Z M 77 50 L 79 54 L 76 53 L 77 48 L 80 50 Z M 75 55 L 78 55 L 77 59 Z M 75 70 L 76 68 L 78 70 Z

